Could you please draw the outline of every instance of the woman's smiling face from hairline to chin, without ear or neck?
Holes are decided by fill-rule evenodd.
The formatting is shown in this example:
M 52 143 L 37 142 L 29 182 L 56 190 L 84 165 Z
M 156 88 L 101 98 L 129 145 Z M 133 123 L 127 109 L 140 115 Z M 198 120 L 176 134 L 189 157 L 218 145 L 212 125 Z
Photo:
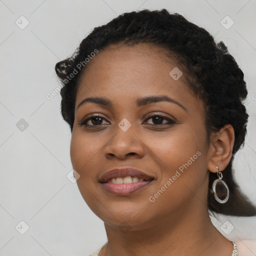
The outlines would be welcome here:
M 169 74 L 174 67 L 182 71 L 156 46 L 111 45 L 99 51 L 82 74 L 70 157 L 84 200 L 112 226 L 125 222 L 135 230 L 206 210 L 204 109 L 184 75 Z M 126 167 L 150 180 L 114 184 L 132 181 L 128 173 L 131 179 L 100 182 L 107 171 Z

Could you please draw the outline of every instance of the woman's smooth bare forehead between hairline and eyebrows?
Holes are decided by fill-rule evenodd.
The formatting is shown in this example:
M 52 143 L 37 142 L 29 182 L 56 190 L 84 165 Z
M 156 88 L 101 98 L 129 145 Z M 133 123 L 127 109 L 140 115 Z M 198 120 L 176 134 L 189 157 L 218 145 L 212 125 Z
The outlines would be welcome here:
M 174 80 L 170 72 L 182 70 L 174 58 L 167 56 L 168 51 L 152 44 L 139 43 L 132 46 L 110 45 L 100 50 L 86 64 L 79 81 L 80 92 L 146 91 L 153 93 L 166 84 L 186 87 L 183 75 Z M 178 75 L 182 74 L 178 73 Z M 175 77 L 174 77 L 175 78 Z M 187 89 L 187 88 L 186 88 Z

